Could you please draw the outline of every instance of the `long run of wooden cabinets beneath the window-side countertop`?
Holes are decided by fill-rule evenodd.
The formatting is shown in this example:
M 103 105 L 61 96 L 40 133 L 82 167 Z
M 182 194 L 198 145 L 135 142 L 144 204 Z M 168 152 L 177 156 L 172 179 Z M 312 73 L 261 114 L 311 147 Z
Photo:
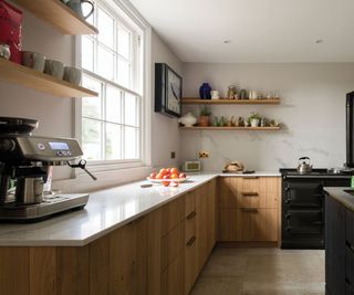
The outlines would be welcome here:
M 216 234 L 211 180 L 85 246 L 0 247 L 0 294 L 189 294 Z

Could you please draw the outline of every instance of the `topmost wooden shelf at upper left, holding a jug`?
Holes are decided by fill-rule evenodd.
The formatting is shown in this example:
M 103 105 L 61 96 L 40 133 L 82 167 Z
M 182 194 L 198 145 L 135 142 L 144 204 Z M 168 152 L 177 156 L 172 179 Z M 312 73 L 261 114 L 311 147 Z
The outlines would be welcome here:
M 97 34 L 98 30 L 81 19 L 73 10 L 60 0 L 14 0 L 64 34 Z

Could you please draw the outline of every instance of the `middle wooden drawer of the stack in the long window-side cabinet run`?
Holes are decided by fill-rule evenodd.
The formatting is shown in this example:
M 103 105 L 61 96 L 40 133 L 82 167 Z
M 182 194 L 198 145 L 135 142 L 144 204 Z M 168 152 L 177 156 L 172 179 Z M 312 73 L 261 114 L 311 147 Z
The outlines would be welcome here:
M 162 271 L 181 253 L 185 246 L 185 222 L 162 238 Z

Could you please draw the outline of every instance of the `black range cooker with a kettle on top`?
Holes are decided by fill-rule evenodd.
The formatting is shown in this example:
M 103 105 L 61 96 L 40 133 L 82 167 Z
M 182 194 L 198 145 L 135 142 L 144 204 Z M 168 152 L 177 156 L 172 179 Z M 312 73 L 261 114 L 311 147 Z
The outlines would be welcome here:
M 280 169 L 282 175 L 282 249 L 324 249 L 324 187 L 350 187 L 351 175 L 313 169 Z

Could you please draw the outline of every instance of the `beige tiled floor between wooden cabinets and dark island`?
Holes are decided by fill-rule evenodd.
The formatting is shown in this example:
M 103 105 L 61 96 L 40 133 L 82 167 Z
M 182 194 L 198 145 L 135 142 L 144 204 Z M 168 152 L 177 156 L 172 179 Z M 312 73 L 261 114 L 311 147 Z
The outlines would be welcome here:
M 217 247 L 191 295 L 324 295 L 324 251 Z

